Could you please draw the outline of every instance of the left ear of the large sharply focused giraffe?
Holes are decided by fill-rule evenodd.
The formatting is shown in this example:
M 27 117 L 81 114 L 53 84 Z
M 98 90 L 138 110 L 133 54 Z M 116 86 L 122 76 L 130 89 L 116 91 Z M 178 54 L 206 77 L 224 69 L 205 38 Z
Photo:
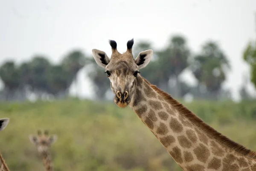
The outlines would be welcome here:
M 108 58 L 107 54 L 101 50 L 93 49 L 93 58 L 95 59 L 96 63 L 105 69 L 105 67 L 110 62 L 110 59 Z

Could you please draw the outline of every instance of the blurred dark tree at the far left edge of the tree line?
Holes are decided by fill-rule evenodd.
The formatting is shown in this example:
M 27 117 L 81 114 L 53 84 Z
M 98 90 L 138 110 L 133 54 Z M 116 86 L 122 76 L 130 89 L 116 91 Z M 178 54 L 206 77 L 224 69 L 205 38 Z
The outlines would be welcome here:
M 4 84 L 6 100 L 9 100 L 20 86 L 20 74 L 13 61 L 6 61 L 0 67 L 0 77 Z

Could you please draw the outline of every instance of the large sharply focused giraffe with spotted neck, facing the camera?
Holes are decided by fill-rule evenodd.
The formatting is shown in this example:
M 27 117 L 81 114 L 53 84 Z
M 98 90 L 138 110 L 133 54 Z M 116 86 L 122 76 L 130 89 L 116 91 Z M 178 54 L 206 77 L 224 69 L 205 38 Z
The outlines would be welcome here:
M 133 58 L 134 39 L 122 54 L 116 41 L 109 43 L 111 58 L 98 49 L 92 54 L 110 80 L 114 103 L 122 108 L 129 105 L 183 171 L 256 171 L 255 152 L 217 132 L 140 75 L 153 50 Z

